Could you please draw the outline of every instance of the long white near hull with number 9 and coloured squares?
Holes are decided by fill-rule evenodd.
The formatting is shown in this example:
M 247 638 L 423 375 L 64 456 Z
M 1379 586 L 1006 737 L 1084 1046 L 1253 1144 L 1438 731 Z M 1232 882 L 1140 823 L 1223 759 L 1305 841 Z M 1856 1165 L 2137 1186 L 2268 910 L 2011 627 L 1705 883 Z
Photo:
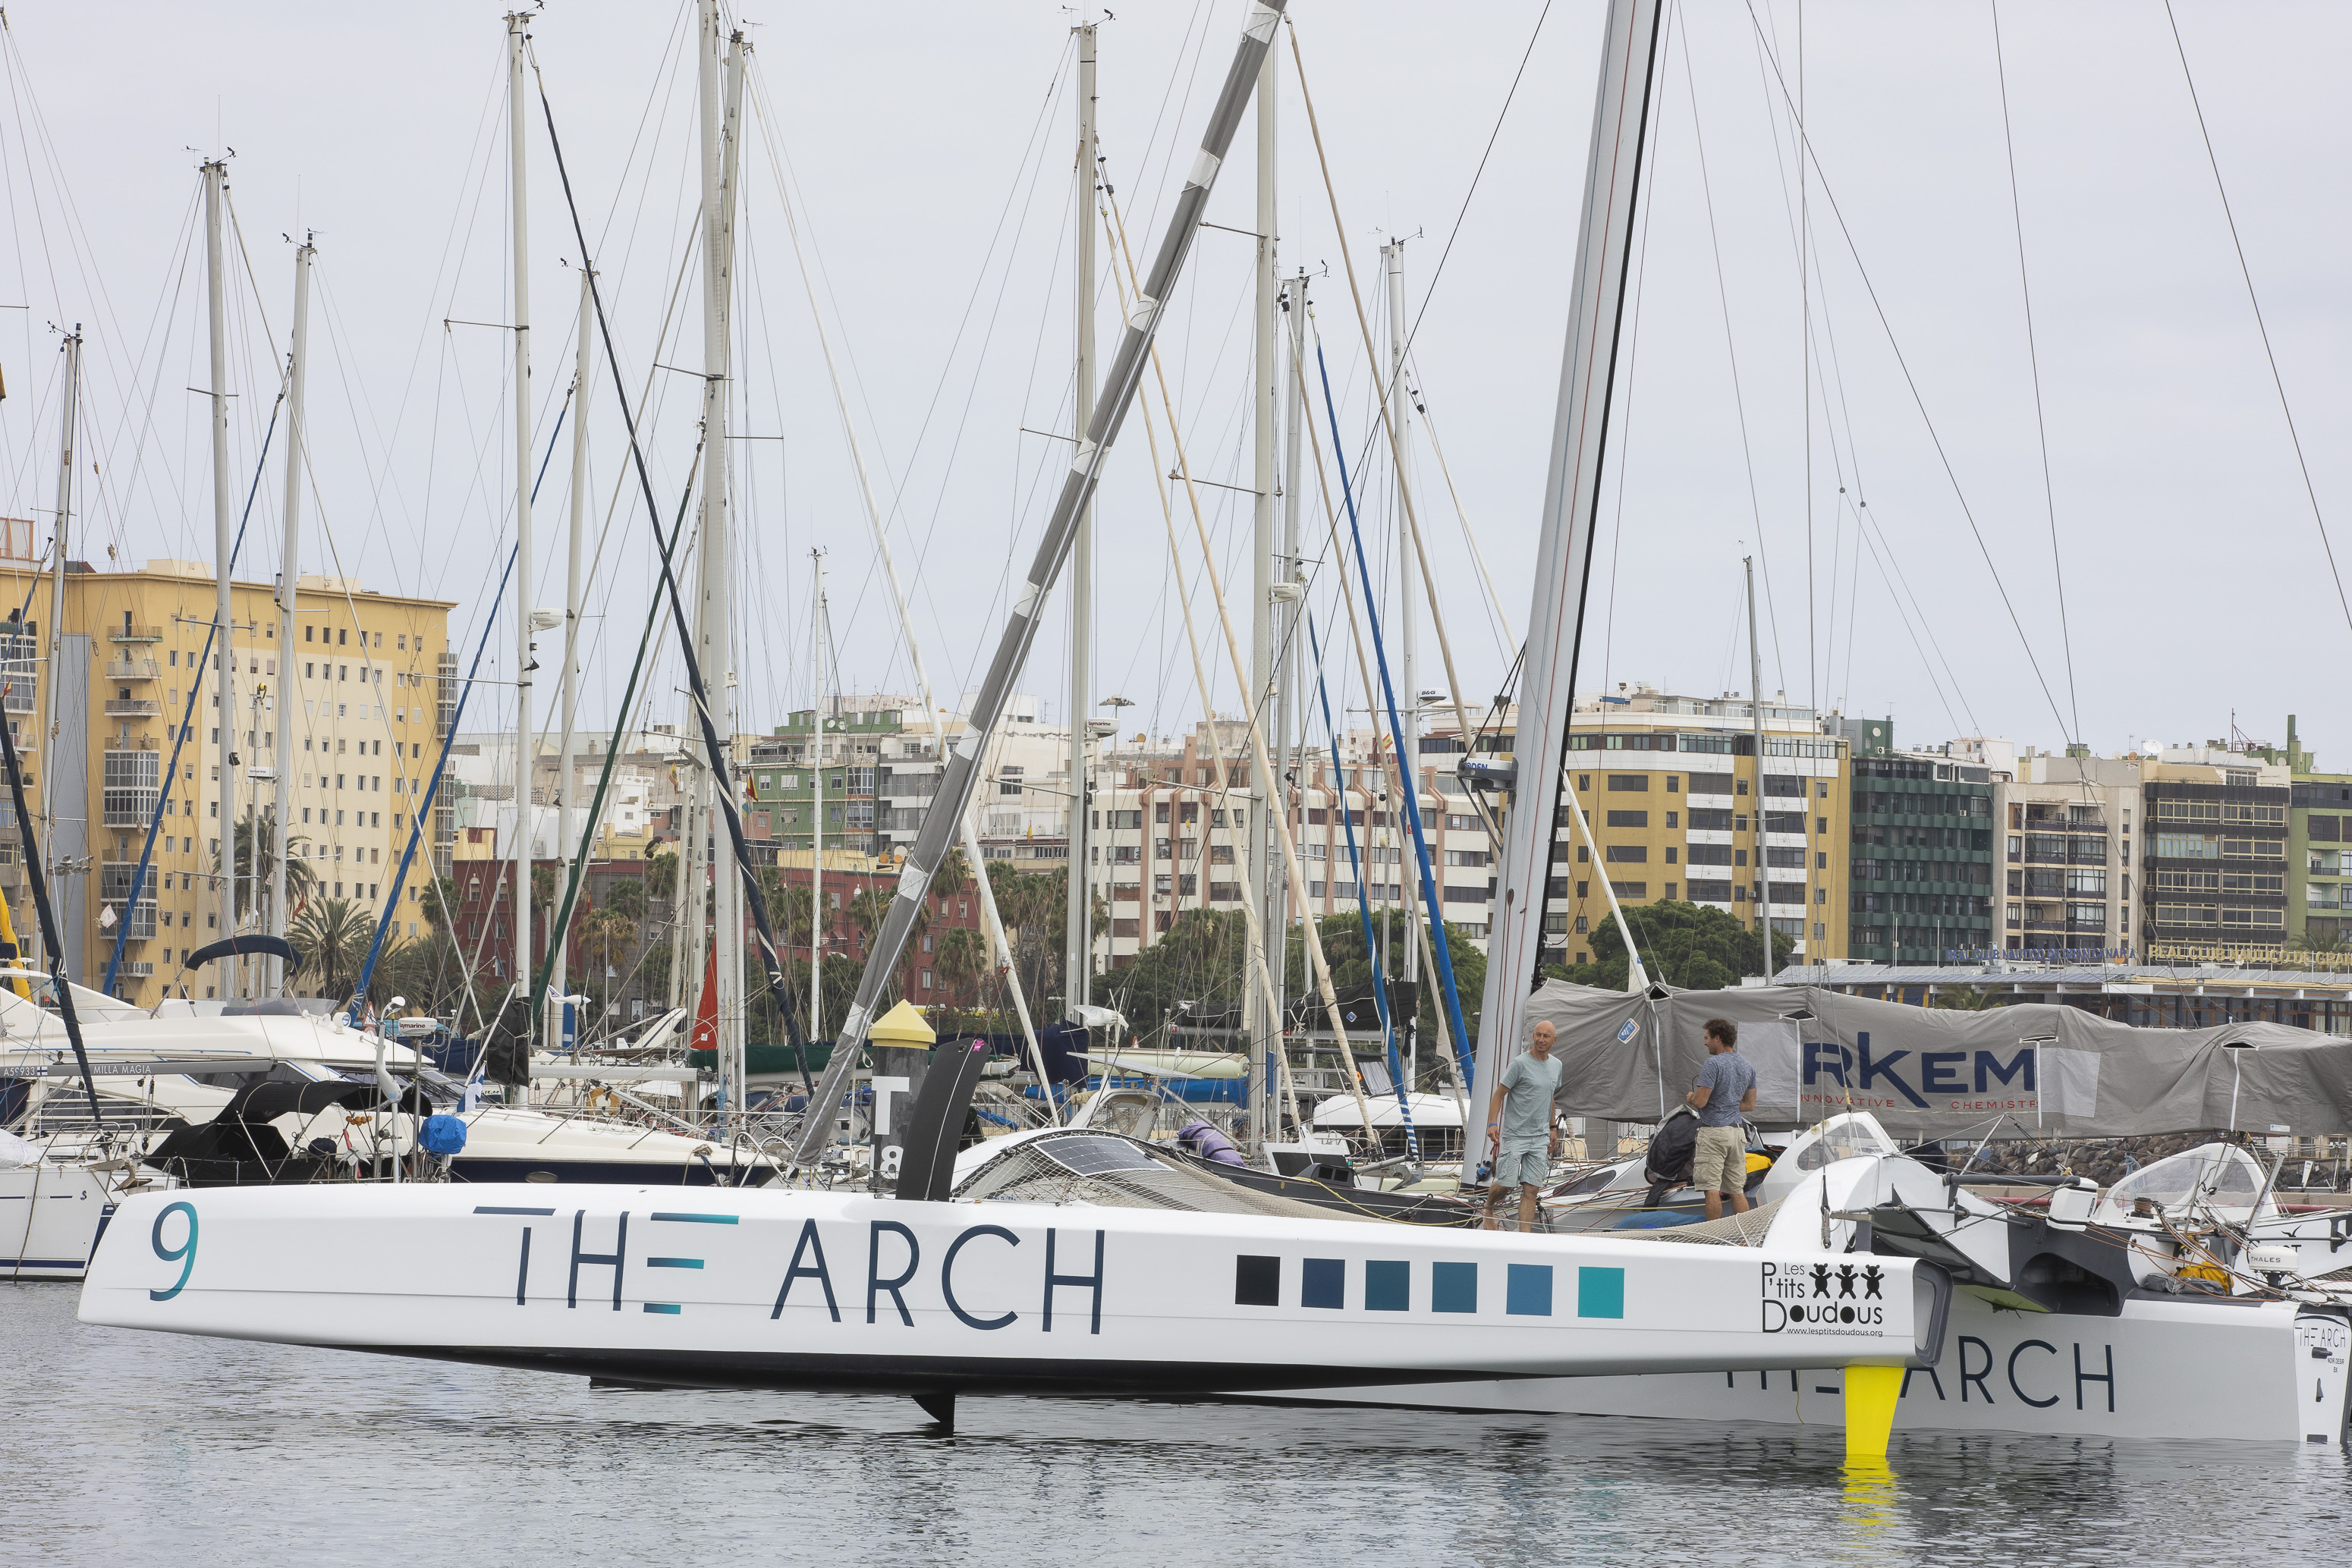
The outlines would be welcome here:
M 1766 1331 L 1769 1267 L 1726 1248 L 1087 1204 L 247 1187 L 129 1199 L 82 1319 L 901 1394 L 1905 1366 L 1933 1328 L 1938 1276 L 1886 1260 L 1851 1324 Z

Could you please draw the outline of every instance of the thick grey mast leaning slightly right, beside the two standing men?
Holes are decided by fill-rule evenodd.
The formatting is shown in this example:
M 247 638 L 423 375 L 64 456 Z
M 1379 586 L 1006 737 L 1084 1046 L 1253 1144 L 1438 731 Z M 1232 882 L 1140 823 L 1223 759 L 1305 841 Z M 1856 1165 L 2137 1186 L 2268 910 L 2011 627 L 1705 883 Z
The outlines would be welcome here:
M 1559 842 L 1562 778 L 1576 705 L 1576 649 L 1592 574 L 1592 524 L 1599 503 L 1609 388 L 1632 252 L 1632 214 L 1642 172 L 1661 0 L 1609 0 L 1592 148 L 1585 160 L 1585 209 L 1576 237 L 1569 341 L 1552 423 L 1534 562 L 1534 609 L 1519 677 L 1515 771 L 1496 867 L 1494 926 L 1486 943 L 1486 992 L 1470 1105 L 1526 1039 L 1526 999 L 1543 978 L 1543 922 Z M 1458 693 L 1456 693 L 1458 696 Z M 1465 736 L 1468 738 L 1468 736 Z M 1573 792 L 1566 797 L 1573 802 Z M 1604 865 L 1592 867 L 1606 872 Z M 1628 957 L 1632 950 L 1628 947 Z

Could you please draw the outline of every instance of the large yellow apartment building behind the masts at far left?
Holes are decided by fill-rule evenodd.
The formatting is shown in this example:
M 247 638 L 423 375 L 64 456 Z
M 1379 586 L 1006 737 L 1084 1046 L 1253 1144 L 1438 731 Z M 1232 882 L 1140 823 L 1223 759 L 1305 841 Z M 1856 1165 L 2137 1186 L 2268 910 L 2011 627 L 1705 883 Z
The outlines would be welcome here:
M 16 529 L 0 538 L 14 541 Z M 14 677 L 5 708 L 52 835 L 49 889 L 68 973 L 99 985 L 127 922 L 115 990 L 153 1004 L 191 947 L 223 936 L 221 844 L 233 846 L 233 837 L 221 832 L 221 766 L 230 769 L 233 818 L 256 806 L 270 813 L 285 771 L 282 837 L 289 860 L 310 870 L 313 896 L 381 912 L 456 696 L 452 602 L 303 576 L 296 639 L 280 646 L 278 588 L 235 583 L 226 649 L 216 646 L 207 668 L 216 614 L 209 562 L 151 559 L 136 571 L 71 562 L 56 581 L 35 562 L 0 559 L 0 592 L 28 607 L 0 630 L 0 661 Z M 223 656 L 235 670 L 226 717 Z M 278 755 L 278 703 L 296 703 L 287 757 Z M 174 738 L 179 771 L 165 778 Z M 151 827 L 155 851 L 134 905 Z M 447 818 L 426 832 L 447 853 Z M 9 842 L 0 891 L 16 907 L 26 903 L 21 877 Z M 245 926 L 263 919 L 259 900 L 247 900 Z M 421 905 L 405 903 L 400 919 L 419 924 Z M 33 929 L 28 914 L 16 924 Z M 188 983 L 209 997 L 223 976 Z

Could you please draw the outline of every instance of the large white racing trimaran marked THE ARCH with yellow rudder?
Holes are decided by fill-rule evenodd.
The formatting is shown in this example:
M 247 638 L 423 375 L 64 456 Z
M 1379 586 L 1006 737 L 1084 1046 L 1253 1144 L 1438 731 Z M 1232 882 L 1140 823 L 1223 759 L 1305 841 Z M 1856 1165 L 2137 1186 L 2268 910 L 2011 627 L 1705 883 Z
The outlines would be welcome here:
M 1282 9 L 1284 0 L 1263 0 L 1249 12 L 814 1105 L 840 1100 L 917 905 L 960 835 L 981 752 L 1136 400 L 1162 303 Z M 1534 980 L 1658 21 L 1661 0 L 1609 5 L 1529 623 L 1522 766 L 1489 776 L 1512 802 L 1475 1088 L 1494 1081 L 1543 1006 L 1562 1006 L 1538 997 Z M 513 89 L 520 96 L 520 66 Z M 553 110 L 548 129 L 553 139 Z M 607 341 L 607 360 L 609 350 Z M 635 428 L 630 444 L 644 482 Z M 703 461 L 713 461 L 708 451 Z M 644 498 L 652 508 L 649 484 Z M 668 559 L 663 588 L 684 639 Z M 713 795 L 739 837 L 703 670 L 691 654 L 687 668 Z M 757 889 L 746 884 L 746 896 L 774 966 Z M 1663 1027 L 1658 1039 L 1663 1051 Z M 2060 1291 L 2063 1314 L 2072 1309 L 2063 1291 L 2098 1272 L 2074 1234 L 2098 1218 L 2079 1185 L 2053 1187 L 2039 1218 L 2020 1215 L 1905 1159 L 1884 1135 L 1863 1138 L 1867 1128 L 1853 1117 L 1837 1138 L 1818 1128 L 1804 1150 L 1792 1147 L 1773 1171 L 1776 1201 L 1752 1218 L 1646 1234 L 1517 1234 L 1390 1225 L 1214 1185 L 1225 1197 L 1192 1206 L 1181 1197 L 1188 1173 L 1164 1152 L 1087 1128 L 995 1140 L 950 1178 L 943 1150 L 974 1077 L 976 1060 L 934 1067 L 894 1199 L 790 1185 L 600 1187 L 562 1199 L 546 1187 L 489 1185 L 134 1197 L 118 1220 L 120 1241 L 92 1267 L 82 1316 L 640 1385 L 889 1392 L 943 1420 L 953 1420 L 957 1394 L 1000 1392 L 1595 1408 L 1573 1396 L 1512 1399 L 1515 1389 L 1581 1387 L 1545 1380 L 1588 1378 L 1665 1389 L 1653 1403 L 1670 1413 L 1675 1389 L 1700 1378 L 1733 1389 L 1762 1378 L 1769 1392 L 1778 1378 L 1811 1380 L 1828 1366 L 1842 1368 L 1835 1387 L 1849 1455 L 1879 1455 L 1907 1373 L 1940 1375 L 1962 1399 L 1985 1389 L 1983 1366 L 1955 1366 L 1945 1354 L 1962 1302 L 2006 1298 L 2018 1316 L 2025 1307 L 2049 1312 L 2046 1295 Z M 830 1117 L 811 1114 L 795 1161 L 814 1166 L 830 1135 Z M 2190 1187 L 2211 1201 L 2201 1180 Z M 964 1201 L 941 1201 L 950 1190 Z M 1018 1201 L 1047 1192 L 1054 1201 Z M 2042 1258 L 2074 1274 L 2034 1274 Z M 2263 1262 L 2253 1255 L 2246 1265 Z M 2119 1298 L 2147 1279 L 2114 1274 L 2105 1269 L 2098 1284 Z M 2169 1319 L 2176 1354 L 2204 1352 L 2230 1375 L 2277 1385 L 2279 1418 L 2246 1436 L 2343 1439 L 2343 1293 L 2326 1284 L 2244 1300 L 2223 1291 L 2178 1307 Z M 2049 1382 L 2049 1368 L 2030 1359 L 2042 1354 L 2058 1354 L 2046 1338 L 2011 1349 L 2013 1387 Z M 2114 1392 L 2096 1368 L 2074 1366 L 2072 1375 L 2077 1403 Z M 2030 1403 L 2037 1399 L 2060 1396 L 2037 1392 Z M 1611 1408 L 1609 1399 L 1597 1403 Z

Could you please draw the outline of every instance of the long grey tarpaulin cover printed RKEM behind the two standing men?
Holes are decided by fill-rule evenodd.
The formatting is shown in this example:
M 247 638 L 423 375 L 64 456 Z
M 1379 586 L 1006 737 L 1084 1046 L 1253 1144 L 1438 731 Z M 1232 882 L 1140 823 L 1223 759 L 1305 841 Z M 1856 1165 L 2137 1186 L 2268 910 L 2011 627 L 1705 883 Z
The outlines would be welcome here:
M 2352 1039 L 2277 1023 L 2136 1030 L 2056 1004 L 1959 1013 L 1809 985 L 1628 994 L 1562 980 L 1526 1016 L 1559 1032 L 1559 1107 L 1611 1121 L 1679 1105 L 1708 1060 L 1708 1018 L 1729 1018 L 1757 1070 L 1759 1126 L 1867 1110 L 1900 1138 L 2352 1131 Z

